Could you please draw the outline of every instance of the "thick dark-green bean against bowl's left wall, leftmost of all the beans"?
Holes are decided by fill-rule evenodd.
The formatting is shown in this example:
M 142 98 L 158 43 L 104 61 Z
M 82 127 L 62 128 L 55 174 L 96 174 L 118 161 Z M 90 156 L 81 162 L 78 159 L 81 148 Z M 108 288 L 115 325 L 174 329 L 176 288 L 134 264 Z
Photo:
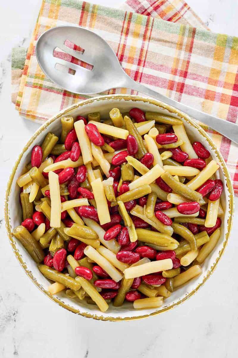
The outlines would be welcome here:
M 29 252 L 35 262 L 40 263 L 44 260 L 45 255 L 39 242 L 34 239 L 24 226 L 15 227 L 12 233 Z

